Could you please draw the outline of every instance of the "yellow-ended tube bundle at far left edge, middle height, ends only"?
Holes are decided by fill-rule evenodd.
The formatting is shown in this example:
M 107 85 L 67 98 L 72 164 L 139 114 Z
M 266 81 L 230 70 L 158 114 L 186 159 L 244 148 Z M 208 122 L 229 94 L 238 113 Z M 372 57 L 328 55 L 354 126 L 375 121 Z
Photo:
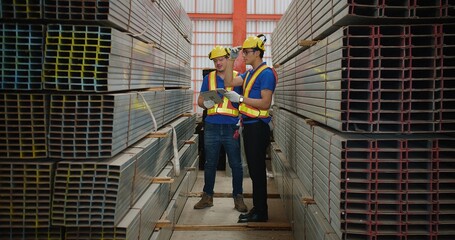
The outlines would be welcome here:
M 48 96 L 0 94 L 0 157 L 37 159 L 48 156 Z

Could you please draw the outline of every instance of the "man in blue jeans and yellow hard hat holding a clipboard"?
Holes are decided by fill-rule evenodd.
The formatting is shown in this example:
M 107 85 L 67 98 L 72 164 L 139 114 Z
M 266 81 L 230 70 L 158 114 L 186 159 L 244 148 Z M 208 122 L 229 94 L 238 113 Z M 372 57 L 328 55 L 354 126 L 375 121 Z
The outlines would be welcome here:
M 218 93 L 218 91 L 233 91 L 242 94 L 241 87 L 224 86 L 223 79 L 226 76 L 226 65 L 229 56 L 229 48 L 216 46 L 210 51 L 209 59 L 213 61 L 216 70 L 204 77 L 201 94 L 198 98 L 199 107 L 207 109 L 207 117 L 204 120 L 204 189 L 202 199 L 194 205 L 194 208 L 203 209 L 213 206 L 216 170 L 220 149 L 223 146 L 228 157 L 229 166 L 232 169 L 234 208 L 239 212 L 247 212 L 248 208 L 243 201 L 243 167 L 240 155 L 239 127 L 237 125 L 239 121 L 239 104 L 229 101 L 228 98 Z M 230 71 L 231 76 L 237 75 L 237 72 L 232 69 Z M 217 100 L 216 97 L 219 97 L 218 102 L 215 102 Z

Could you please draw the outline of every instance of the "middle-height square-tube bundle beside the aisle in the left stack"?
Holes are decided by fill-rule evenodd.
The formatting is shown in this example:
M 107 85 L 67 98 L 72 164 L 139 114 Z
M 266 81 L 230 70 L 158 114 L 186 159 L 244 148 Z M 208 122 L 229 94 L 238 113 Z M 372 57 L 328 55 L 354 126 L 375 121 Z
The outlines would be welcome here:
M 163 109 L 166 103 L 157 101 L 162 97 L 163 92 L 154 91 L 52 95 L 50 155 L 64 159 L 114 156 L 153 130 L 152 124 L 145 124 L 152 120 L 148 107 L 152 113 Z M 163 121 L 157 124 L 161 127 Z

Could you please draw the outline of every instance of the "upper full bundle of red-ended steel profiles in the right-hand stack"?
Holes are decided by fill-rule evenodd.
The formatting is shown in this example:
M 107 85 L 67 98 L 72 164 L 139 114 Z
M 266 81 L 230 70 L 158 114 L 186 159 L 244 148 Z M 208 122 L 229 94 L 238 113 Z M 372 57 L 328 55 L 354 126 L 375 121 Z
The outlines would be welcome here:
M 453 29 L 452 24 L 339 29 L 296 56 L 295 64 L 290 61 L 295 79 L 283 77 L 277 102 L 340 131 L 454 131 L 455 109 L 448 104 L 455 100 Z M 288 96 L 296 107 L 283 100 Z

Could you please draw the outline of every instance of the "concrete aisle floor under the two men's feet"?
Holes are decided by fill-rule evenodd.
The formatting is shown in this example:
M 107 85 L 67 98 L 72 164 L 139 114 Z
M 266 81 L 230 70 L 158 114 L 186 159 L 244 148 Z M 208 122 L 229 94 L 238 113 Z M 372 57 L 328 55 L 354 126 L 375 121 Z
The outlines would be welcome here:
M 234 201 L 228 196 L 231 191 L 231 177 L 225 171 L 218 171 L 215 183 L 214 206 L 202 210 L 193 209 L 204 186 L 204 171 L 198 173 L 191 196 L 183 209 L 171 240 L 293 240 L 291 224 L 283 209 L 273 178 L 268 179 L 269 221 L 266 223 L 237 223 L 239 212 Z M 252 207 L 251 179 L 243 182 L 245 204 Z

